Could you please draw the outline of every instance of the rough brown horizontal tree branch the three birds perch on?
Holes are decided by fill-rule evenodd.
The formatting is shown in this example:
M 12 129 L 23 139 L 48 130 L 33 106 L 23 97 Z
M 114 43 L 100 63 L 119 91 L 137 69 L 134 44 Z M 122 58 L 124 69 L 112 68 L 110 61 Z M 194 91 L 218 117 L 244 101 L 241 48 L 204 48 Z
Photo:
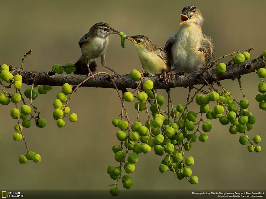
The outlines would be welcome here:
M 234 80 L 243 74 L 248 74 L 258 70 L 259 68 L 264 68 L 265 64 L 263 62 L 263 55 L 259 56 L 257 59 L 253 59 L 244 62 L 240 65 L 231 65 L 227 67 L 227 70 L 222 73 L 216 73 L 215 69 L 209 72 L 204 72 L 203 77 L 209 83 L 213 81 L 220 81 L 225 79 Z M 62 86 L 64 83 L 69 83 L 72 85 L 79 84 L 84 79 L 86 75 L 75 75 L 75 74 L 54 74 L 52 72 L 36 72 L 36 71 L 25 71 L 20 68 L 10 68 L 10 72 L 15 74 L 20 74 L 23 77 L 23 83 L 31 85 L 53 85 Z M 169 89 L 174 87 L 188 87 L 196 84 L 206 84 L 204 79 L 200 77 L 201 72 L 185 73 L 184 75 L 176 75 L 175 78 L 171 78 L 168 84 L 159 79 L 159 75 L 144 77 L 143 80 L 151 80 L 154 82 L 155 89 Z M 120 81 L 117 77 L 115 78 L 115 84 L 119 90 L 125 90 L 126 88 L 136 88 L 138 82 L 130 79 L 129 74 L 123 75 L 123 81 Z M 101 87 L 101 88 L 115 88 L 112 81 L 110 81 L 107 75 L 96 75 L 89 81 L 86 81 L 83 85 L 84 87 Z

